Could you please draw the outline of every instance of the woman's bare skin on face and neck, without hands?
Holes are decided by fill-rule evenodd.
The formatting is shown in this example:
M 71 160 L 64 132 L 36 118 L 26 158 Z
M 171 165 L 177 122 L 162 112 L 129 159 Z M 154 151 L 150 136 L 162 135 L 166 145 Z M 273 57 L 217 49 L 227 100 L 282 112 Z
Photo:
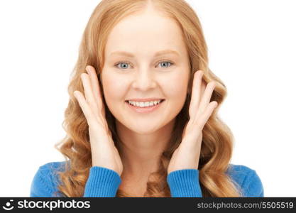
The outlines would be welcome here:
M 175 50 L 179 55 L 153 58 L 156 52 L 166 49 Z M 119 50 L 133 53 L 135 57 L 111 55 Z M 174 65 L 166 62 L 168 60 Z M 120 61 L 126 62 L 114 67 Z M 116 118 L 117 132 L 123 141 L 120 151 L 125 177 L 141 180 L 157 168 L 175 116 L 185 102 L 189 65 L 180 28 L 153 10 L 140 16 L 126 17 L 109 34 L 102 84 L 106 104 Z M 161 109 L 138 114 L 124 102 L 126 99 L 149 97 L 165 99 Z

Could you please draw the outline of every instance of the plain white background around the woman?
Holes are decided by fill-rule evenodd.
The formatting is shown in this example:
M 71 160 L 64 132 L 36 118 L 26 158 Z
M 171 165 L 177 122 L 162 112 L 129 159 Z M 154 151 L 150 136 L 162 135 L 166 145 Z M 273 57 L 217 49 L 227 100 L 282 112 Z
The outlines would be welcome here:
M 265 197 L 295 197 L 296 3 L 187 1 L 226 84 L 219 115 L 234 133 L 231 163 L 256 170 Z M 54 148 L 82 33 L 99 1 L 0 1 L 0 196 L 28 197 Z

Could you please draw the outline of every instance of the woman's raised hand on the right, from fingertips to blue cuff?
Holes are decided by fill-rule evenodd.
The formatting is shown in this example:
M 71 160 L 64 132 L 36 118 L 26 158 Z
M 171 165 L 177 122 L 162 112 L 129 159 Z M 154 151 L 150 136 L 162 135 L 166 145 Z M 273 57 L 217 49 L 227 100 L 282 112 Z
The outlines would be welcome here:
M 175 170 L 198 169 L 202 129 L 218 105 L 217 102 L 209 103 L 216 86 L 215 82 L 209 82 L 207 88 L 204 89 L 202 75 L 202 70 L 194 73 L 189 108 L 190 120 L 184 128 L 182 142 L 172 154 L 168 165 L 168 174 Z

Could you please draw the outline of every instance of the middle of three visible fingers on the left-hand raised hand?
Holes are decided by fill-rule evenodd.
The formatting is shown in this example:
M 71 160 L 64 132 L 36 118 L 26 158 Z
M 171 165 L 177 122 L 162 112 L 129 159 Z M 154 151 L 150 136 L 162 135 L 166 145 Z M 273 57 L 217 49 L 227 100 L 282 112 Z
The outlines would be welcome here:
M 89 75 L 87 73 L 82 73 L 81 78 L 84 87 L 84 96 L 86 97 L 87 103 L 89 104 L 89 107 L 92 109 L 93 113 L 96 116 L 99 116 L 99 109 L 97 102 L 94 100 L 94 94 L 92 92 Z

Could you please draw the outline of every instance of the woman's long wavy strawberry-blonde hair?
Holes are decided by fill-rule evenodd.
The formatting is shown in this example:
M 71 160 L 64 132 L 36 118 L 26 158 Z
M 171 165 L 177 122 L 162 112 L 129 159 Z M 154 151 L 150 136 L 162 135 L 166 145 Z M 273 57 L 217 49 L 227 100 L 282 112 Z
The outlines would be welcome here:
M 155 9 L 173 18 L 182 29 L 182 38 L 190 59 L 190 82 L 185 104 L 176 116 L 169 146 L 160 158 L 158 171 L 151 173 L 148 178 L 144 197 L 171 196 L 166 181 L 168 163 L 172 153 L 179 146 L 182 140 L 182 131 L 189 121 L 188 109 L 192 79 L 197 70 L 203 70 L 205 82 L 212 80 L 216 82 L 217 85 L 210 102 L 218 102 L 218 107 L 213 111 L 202 131 L 202 147 L 198 166 L 202 196 L 240 197 L 239 186 L 226 174 L 231 160 L 234 138 L 229 127 L 217 115 L 217 111 L 226 97 L 226 86 L 209 70 L 207 44 L 204 40 L 202 26 L 194 10 L 183 0 L 102 0 L 94 9 L 84 30 L 78 60 L 68 86 L 70 101 L 65 110 L 65 120 L 62 122 L 67 135 L 60 143 L 55 144 L 55 148 L 66 159 L 65 171 L 58 173 L 61 183 L 58 185 L 56 193 L 65 197 L 83 197 L 89 169 L 92 167 L 87 120 L 73 96 L 75 90 L 84 93 L 80 75 L 87 65 L 92 65 L 97 70 L 99 81 L 102 82 L 99 73 L 104 66 L 104 48 L 111 29 L 122 18 L 143 11 L 151 3 L 155 6 Z M 100 87 L 103 91 L 102 83 L 100 83 Z M 105 99 L 103 102 L 106 107 Z M 118 147 L 120 138 L 116 133 L 115 118 L 108 107 L 106 107 L 106 121 L 112 133 L 114 144 Z M 121 190 L 116 193 L 116 197 L 129 196 Z

